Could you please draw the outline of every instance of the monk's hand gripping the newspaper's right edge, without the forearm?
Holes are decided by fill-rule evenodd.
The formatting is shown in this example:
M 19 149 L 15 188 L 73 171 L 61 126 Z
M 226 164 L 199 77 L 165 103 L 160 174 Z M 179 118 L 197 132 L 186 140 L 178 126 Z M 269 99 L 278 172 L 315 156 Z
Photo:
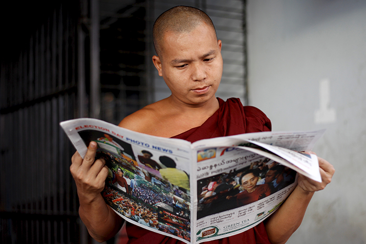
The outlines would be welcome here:
M 315 154 L 315 153 L 313 153 Z M 325 188 L 327 184 L 329 184 L 332 180 L 332 177 L 334 175 L 334 167 L 332 164 L 328 163 L 326 160 L 319 158 L 319 168 L 320 168 L 320 175 L 322 177 L 322 182 L 316 182 L 313 181 L 303 175 L 299 174 L 298 179 L 298 186 L 304 191 L 304 192 L 315 192 L 320 191 Z

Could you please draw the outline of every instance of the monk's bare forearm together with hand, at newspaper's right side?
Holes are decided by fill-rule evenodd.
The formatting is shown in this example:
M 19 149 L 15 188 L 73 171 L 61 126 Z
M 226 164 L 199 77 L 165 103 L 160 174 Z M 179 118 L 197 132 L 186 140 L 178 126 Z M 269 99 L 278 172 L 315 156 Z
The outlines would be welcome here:
M 330 183 L 334 174 L 334 167 L 319 158 L 322 183 L 315 182 L 299 175 L 298 185 L 285 203 L 265 223 L 269 241 L 272 244 L 284 244 L 296 231 L 303 221 L 306 208 L 315 191 L 323 190 Z

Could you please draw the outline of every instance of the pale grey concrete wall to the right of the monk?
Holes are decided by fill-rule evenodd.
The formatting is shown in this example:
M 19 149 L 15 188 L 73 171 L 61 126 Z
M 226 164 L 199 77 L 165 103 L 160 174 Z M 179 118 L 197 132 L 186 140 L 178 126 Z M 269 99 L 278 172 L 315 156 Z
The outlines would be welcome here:
M 273 130 L 326 128 L 336 168 L 288 244 L 366 243 L 366 1 L 248 0 L 249 104 Z

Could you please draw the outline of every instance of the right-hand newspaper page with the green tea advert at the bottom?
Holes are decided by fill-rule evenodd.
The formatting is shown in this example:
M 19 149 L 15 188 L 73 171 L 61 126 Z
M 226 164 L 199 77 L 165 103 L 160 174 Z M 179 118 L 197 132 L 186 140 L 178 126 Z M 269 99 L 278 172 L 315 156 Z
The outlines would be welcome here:
M 193 143 L 197 215 L 192 216 L 192 237 L 200 243 L 261 223 L 293 191 L 296 171 L 319 181 L 317 158 L 292 150 L 311 150 L 323 133 L 260 132 Z

